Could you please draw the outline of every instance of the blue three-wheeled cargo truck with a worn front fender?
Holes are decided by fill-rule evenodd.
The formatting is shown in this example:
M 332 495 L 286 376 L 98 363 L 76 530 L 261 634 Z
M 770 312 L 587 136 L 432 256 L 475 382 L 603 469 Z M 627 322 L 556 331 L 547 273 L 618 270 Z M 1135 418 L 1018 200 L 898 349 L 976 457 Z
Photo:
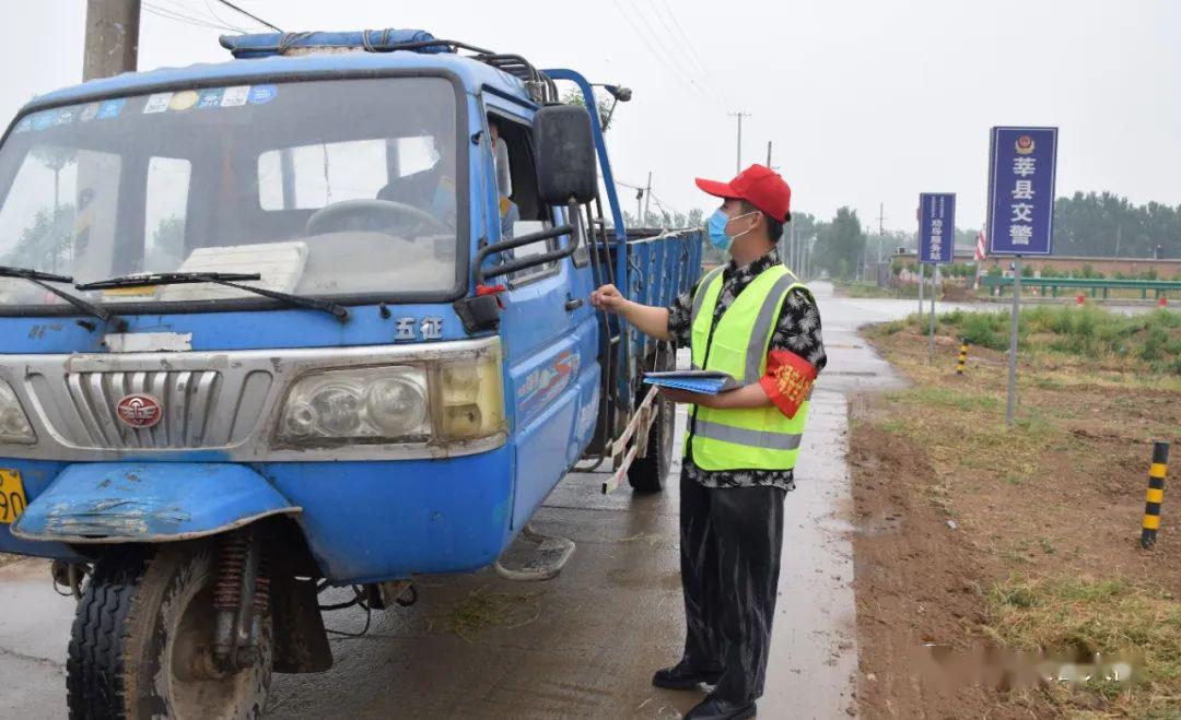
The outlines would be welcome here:
M 0 145 L 0 551 L 78 597 L 73 716 L 257 715 L 331 666 L 325 588 L 552 575 L 569 548 L 500 558 L 567 472 L 670 465 L 640 375 L 672 348 L 588 295 L 671 302 L 702 237 L 625 229 L 582 76 L 424 32 L 222 42 Z

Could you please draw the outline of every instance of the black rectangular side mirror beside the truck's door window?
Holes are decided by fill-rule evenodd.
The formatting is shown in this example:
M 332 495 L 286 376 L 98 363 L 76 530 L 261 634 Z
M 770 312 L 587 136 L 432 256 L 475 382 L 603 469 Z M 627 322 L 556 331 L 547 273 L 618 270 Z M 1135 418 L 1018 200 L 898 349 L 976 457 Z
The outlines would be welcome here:
M 581 105 L 542 107 L 533 120 L 537 195 L 547 205 L 582 204 L 599 195 L 590 113 Z

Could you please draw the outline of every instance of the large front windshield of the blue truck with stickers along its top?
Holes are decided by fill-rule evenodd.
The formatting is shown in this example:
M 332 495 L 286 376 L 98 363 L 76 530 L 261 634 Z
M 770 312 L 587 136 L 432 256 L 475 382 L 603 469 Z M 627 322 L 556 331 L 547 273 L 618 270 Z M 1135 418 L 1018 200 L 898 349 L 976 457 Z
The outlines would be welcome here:
M 112 98 L 27 114 L 0 148 L 0 266 L 78 283 L 257 273 L 314 296 L 456 286 L 456 94 L 443 78 L 315 80 Z M 253 297 L 213 283 L 97 303 Z M 0 279 L 0 308 L 64 301 Z

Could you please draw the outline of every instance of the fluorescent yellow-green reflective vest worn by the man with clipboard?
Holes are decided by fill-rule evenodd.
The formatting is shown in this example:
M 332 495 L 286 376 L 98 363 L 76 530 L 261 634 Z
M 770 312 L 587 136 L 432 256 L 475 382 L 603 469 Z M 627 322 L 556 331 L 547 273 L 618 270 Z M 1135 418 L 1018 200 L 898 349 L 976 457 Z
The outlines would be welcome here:
M 720 371 L 739 385 L 752 385 L 766 373 L 768 346 L 784 297 L 795 288 L 807 288 L 787 267 L 772 266 L 738 294 L 711 333 L 722 271 L 710 271 L 693 295 L 693 368 Z M 693 406 L 686 451 L 692 445 L 693 463 L 702 470 L 791 470 L 800 456 L 808 405 L 804 400 L 791 418 L 774 405 L 742 410 Z

